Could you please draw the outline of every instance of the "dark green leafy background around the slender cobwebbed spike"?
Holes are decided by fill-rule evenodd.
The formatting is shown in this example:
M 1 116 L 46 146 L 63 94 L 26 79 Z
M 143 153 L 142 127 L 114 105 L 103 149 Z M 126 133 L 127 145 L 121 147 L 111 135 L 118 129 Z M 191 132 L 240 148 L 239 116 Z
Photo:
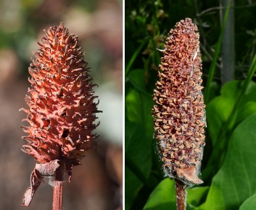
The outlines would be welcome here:
M 230 2 L 227 18 L 224 0 L 125 1 L 125 209 L 175 209 L 151 110 L 157 49 L 184 18 L 200 33 L 207 117 L 204 183 L 188 190 L 187 209 L 255 209 L 256 1 Z

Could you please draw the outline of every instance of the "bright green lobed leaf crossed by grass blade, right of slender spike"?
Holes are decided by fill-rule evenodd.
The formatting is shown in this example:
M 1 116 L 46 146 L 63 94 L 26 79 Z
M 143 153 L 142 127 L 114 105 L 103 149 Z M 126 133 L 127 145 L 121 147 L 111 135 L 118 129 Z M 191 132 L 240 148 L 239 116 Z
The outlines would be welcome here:
M 220 137 L 220 132 L 223 132 L 224 123 L 228 120 L 231 114 L 234 114 L 234 120 L 227 126 L 228 129 L 234 125 L 238 125 L 246 117 L 256 112 L 256 107 L 253 102 L 256 102 L 256 83 L 251 82 L 246 93 L 240 98 L 236 112 L 232 113 L 238 95 L 242 87 L 241 81 L 230 81 L 221 89 L 221 96 L 211 100 L 206 107 L 207 127 L 211 136 L 213 145 Z

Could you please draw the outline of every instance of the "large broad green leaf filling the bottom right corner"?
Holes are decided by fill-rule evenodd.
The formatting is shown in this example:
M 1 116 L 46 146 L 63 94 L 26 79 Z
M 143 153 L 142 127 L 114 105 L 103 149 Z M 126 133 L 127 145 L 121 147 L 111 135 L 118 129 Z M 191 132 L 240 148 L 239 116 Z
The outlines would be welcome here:
M 233 210 L 256 191 L 256 114 L 247 117 L 230 138 L 223 166 L 213 178 L 205 210 Z

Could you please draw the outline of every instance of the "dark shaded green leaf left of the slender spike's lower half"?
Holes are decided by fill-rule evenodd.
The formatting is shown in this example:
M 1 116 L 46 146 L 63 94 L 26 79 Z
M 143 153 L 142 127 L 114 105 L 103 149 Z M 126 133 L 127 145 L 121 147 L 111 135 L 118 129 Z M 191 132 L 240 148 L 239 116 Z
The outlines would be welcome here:
M 146 148 L 146 150 L 145 150 Z M 125 122 L 125 209 L 129 209 L 150 175 L 152 167 L 152 138 L 144 127 Z

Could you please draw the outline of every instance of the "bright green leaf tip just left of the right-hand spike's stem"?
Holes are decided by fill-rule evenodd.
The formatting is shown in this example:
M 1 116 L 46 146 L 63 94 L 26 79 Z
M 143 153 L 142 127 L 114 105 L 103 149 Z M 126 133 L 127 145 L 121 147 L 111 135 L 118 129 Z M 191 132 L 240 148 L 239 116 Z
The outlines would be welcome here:
M 153 190 L 143 210 L 176 209 L 174 180 L 163 179 Z

